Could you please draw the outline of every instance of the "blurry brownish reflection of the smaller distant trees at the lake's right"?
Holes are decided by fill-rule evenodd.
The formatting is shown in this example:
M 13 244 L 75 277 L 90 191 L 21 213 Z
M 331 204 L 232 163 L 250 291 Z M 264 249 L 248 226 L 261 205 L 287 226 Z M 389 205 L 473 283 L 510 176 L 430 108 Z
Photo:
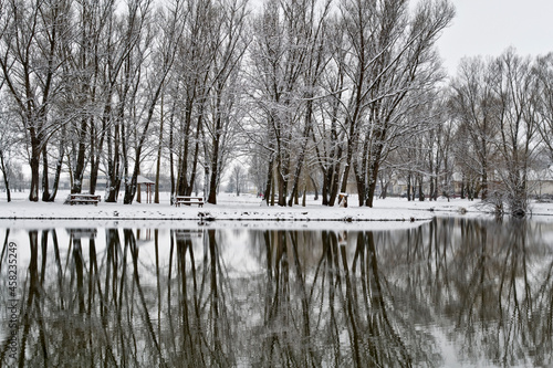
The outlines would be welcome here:
M 380 256 L 405 295 L 432 306 L 421 323 L 436 324 L 460 359 L 544 366 L 553 351 L 553 261 L 542 227 L 437 219 L 383 234 L 389 245 Z

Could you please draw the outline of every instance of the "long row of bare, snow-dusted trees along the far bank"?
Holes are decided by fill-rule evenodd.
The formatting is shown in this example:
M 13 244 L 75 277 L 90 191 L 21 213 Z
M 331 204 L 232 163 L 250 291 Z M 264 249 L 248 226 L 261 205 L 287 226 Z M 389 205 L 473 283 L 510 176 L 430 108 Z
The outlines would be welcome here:
M 398 178 L 437 198 L 457 175 L 463 196 L 493 183 L 525 210 L 552 155 L 552 57 L 508 50 L 448 80 L 436 42 L 453 17 L 447 0 L 2 1 L 4 186 L 24 157 L 31 201 L 67 172 L 72 192 L 102 175 L 106 201 L 132 203 L 148 172 L 217 203 L 241 158 L 270 204 L 334 206 L 352 182 L 372 207 Z

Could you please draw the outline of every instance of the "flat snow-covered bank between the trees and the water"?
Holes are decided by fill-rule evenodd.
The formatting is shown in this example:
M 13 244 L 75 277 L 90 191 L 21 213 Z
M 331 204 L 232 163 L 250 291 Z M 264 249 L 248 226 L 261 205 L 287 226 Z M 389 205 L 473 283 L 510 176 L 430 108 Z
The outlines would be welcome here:
M 218 204 L 170 206 L 169 194 L 160 194 L 160 203 L 134 202 L 133 204 L 106 203 L 97 206 L 63 204 L 67 192 L 60 192 L 55 202 L 30 202 L 28 193 L 15 192 L 12 201 L 6 202 L 6 194 L 0 194 L 0 220 L 96 220 L 96 221 L 125 221 L 145 220 L 154 222 L 195 221 L 201 219 L 217 221 L 322 221 L 323 227 L 328 227 L 327 221 L 342 222 L 411 222 L 427 221 L 437 214 L 487 215 L 489 210 L 480 201 L 462 199 L 438 199 L 438 201 L 407 201 L 405 198 L 376 199 L 374 208 L 358 207 L 356 196 L 349 196 L 348 207 L 325 207 L 321 201 L 314 201 L 313 196 L 307 197 L 305 207 L 268 207 L 252 194 L 221 193 Z M 143 196 L 144 198 L 144 196 Z M 553 203 L 532 203 L 532 213 L 539 217 L 553 218 Z M 549 220 L 553 221 L 553 219 Z M 310 224 L 310 228 L 313 224 Z

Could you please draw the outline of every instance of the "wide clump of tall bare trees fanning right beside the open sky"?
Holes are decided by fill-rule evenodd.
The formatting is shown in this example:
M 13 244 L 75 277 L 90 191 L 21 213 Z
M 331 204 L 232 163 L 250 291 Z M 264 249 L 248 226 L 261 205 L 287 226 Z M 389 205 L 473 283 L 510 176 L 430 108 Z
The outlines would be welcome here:
M 330 97 L 314 135 L 324 204 L 354 176 L 359 204 L 372 207 L 380 165 L 403 137 L 427 129 L 428 119 L 408 116 L 431 113 L 442 76 L 435 42 L 453 14 L 448 1 L 425 1 L 413 13 L 407 1 L 341 3 L 325 70 Z

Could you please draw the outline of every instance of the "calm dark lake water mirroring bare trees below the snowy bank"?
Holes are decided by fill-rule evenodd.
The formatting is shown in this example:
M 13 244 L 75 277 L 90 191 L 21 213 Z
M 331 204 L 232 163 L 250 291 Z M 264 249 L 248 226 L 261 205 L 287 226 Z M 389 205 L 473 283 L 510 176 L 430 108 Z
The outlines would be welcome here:
M 553 364 L 551 224 L 0 234 L 1 366 Z

